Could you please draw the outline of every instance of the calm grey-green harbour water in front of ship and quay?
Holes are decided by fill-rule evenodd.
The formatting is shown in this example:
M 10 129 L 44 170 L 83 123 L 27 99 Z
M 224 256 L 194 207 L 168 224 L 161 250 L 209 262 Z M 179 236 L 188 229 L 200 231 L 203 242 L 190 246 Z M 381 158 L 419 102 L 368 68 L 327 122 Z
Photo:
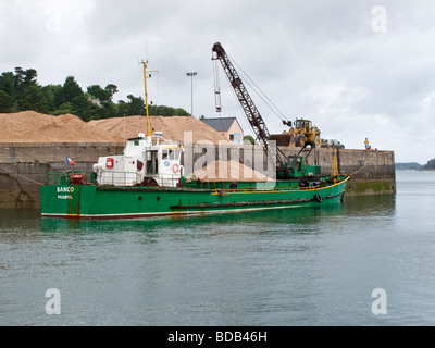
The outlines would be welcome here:
M 0 325 L 434 325 L 435 172 L 397 172 L 397 190 L 141 221 L 1 210 Z

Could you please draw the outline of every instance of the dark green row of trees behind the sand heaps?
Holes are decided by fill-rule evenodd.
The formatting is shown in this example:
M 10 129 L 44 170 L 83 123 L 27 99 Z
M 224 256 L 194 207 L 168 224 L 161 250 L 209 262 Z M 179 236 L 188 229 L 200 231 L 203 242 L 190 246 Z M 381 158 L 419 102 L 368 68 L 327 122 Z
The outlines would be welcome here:
M 74 76 L 67 76 L 63 85 L 41 86 L 37 82 L 38 73 L 34 69 L 15 67 L 14 72 L 0 75 L 0 112 L 20 112 L 34 110 L 40 113 L 61 115 L 71 113 L 84 121 L 130 115 L 146 115 L 146 105 L 141 97 L 127 96 L 127 101 L 113 102 L 117 86 L 113 84 L 102 88 L 88 86 L 86 92 Z M 184 109 L 170 107 L 148 107 L 149 115 L 186 116 Z

